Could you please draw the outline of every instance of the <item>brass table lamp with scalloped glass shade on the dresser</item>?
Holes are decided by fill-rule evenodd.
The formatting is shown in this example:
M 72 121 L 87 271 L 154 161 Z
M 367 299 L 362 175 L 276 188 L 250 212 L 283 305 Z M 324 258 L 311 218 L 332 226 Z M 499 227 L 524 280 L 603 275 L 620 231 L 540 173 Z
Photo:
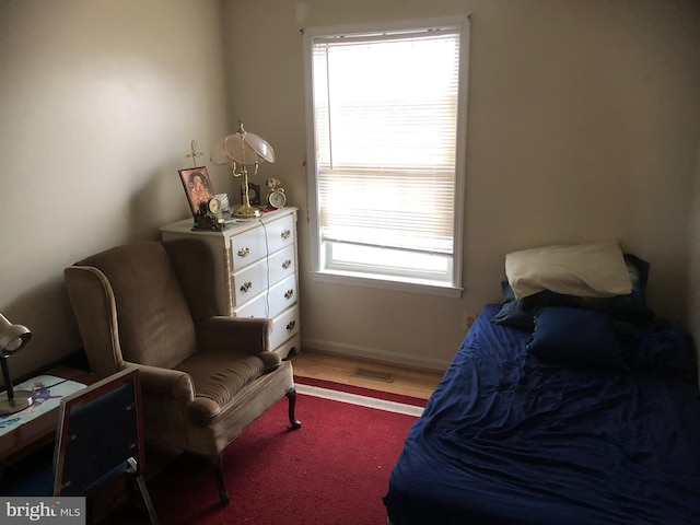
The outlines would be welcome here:
M 249 133 L 243 128 L 243 120 L 238 120 L 238 131 L 226 135 L 211 150 L 211 162 L 214 164 L 231 163 L 231 171 L 235 177 L 243 176 L 243 203 L 233 211 L 235 217 L 260 217 L 260 210 L 250 206 L 248 191 L 248 166 L 254 166 L 257 175 L 260 162 L 275 162 L 275 151 L 262 138 Z M 241 172 L 236 173 L 236 167 Z

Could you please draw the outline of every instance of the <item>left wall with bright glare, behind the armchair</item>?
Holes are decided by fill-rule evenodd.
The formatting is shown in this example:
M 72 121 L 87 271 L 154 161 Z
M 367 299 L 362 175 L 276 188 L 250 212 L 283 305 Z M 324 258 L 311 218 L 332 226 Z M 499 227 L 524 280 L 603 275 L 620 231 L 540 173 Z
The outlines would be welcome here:
M 14 376 L 81 346 L 66 266 L 189 214 L 177 171 L 228 130 L 224 80 L 217 0 L 0 0 L 0 312 L 33 331 Z

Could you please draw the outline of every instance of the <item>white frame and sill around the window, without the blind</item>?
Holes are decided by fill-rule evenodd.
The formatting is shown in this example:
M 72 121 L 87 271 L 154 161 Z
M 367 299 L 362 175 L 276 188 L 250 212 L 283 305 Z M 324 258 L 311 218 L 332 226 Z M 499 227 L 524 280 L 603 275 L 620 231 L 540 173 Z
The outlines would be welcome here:
M 352 271 L 351 269 L 332 268 L 326 264 L 327 246 L 320 238 L 319 198 L 316 165 L 316 140 L 314 122 L 313 98 L 313 45 L 319 37 L 337 35 L 358 35 L 371 33 L 394 33 L 434 27 L 459 28 L 459 88 L 457 106 L 457 143 L 455 158 L 455 195 L 454 195 L 454 225 L 453 225 L 453 254 L 452 254 L 452 280 L 440 281 L 420 279 L 410 276 L 372 272 L 366 269 Z M 308 27 L 304 28 L 304 77 L 305 77 L 305 105 L 306 105 L 306 172 L 308 191 L 308 225 L 312 250 L 311 271 L 314 280 L 334 282 L 350 285 L 401 290 L 409 292 L 427 293 L 459 298 L 462 295 L 462 254 L 463 254 L 463 224 L 464 224 L 464 192 L 465 192 L 465 162 L 466 162 L 466 131 L 467 131 L 467 85 L 469 63 L 469 15 L 456 15 L 438 19 L 420 19 L 410 21 L 396 21 L 373 24 L 359 24 L 335 27 Z M 417 220 L 420 217 L 417 214 Z

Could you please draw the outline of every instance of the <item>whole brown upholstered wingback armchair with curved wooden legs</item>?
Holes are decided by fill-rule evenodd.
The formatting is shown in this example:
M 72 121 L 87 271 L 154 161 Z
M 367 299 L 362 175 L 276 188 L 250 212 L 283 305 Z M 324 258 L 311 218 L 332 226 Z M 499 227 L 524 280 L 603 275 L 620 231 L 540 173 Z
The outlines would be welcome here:
M 269 348 L 271 320 L 215 315 L 202 242 L 127 244 L 63 275 L 91 369 L 140 370 L 147 440 L 208 456 L 223 504 L 225 446 L 282 396 L 301 427 L 292 364 Z

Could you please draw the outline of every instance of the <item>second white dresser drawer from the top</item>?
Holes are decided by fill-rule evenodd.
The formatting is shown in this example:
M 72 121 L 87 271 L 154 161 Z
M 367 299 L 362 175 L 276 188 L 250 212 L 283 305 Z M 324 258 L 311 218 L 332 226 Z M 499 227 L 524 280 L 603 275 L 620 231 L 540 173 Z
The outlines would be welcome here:
M 271 287 L 285 277 L 293 276 L 295 267 L 292 245 L 234 273 L 231 279 L 234 304 L 241 306 L 262 293 L 267 290 L 268 282 Z

